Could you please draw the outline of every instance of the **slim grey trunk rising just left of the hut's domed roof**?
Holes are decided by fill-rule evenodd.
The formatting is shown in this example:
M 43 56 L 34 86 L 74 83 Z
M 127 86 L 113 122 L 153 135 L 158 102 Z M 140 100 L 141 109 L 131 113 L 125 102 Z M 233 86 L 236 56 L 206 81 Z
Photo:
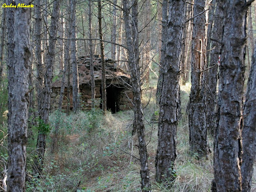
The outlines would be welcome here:
M 76 55 L 76 0 L 70 0 L 70 27 L 71 30 L 71 65 L 73 68 L 73 112 L 79 109 L 79 76 Z

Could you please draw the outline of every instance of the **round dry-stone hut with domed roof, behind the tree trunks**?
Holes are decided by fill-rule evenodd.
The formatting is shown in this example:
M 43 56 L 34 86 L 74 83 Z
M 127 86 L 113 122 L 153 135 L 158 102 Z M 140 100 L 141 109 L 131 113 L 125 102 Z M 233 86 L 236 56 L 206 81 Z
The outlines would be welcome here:
M 82 110 L 91 109 L 91 84 L 90 84 L 90 56 L 82 55 L 77 59 L 78 73 L 79 73 L 79 91 L 80 91 L 80 105 Z M 130 87 L 130 75 L 125 73 L 122 69 L 118 68 L 115 61 L 112 59 L 105 59 L 105 78 L 106 78 L 106 92 L 107 92 L 107 110 L 111 110 L 112 113 L 119 110 L 129 110 L 132 108 L 133 93 Z M 94 55 L 94 82 L 96 93 L 96 106 L 102 107 L 101 103 L 101 57 L 100 55 Z M 61 78 L 60 74 L 60 78 Z M 70 90 L 70 108 L 73 108 L 72 104 L 72 75 L 70 78 L 71 90 Z M 61 80 L 57 80 L 52 86 L 52 107 L 57 107 L 59 102 L 59 93 L 61 87 Z M 67 95 L 67 80 L 65 80 L 65 91 L 63 98 L 62 108 L 66 108 L 68 104 Z

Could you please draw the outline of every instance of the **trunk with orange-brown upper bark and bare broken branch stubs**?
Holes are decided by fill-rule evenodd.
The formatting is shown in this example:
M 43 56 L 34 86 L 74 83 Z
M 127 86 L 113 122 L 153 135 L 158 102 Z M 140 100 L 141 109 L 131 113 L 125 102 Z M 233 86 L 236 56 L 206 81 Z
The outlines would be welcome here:
M 194 15 L 206 9 L 205 0 L 194 1 Z M 190 127 L 190 151 L 201 158 L 208 154 L 207 127 L 205 121 L 205 73 L 207 15 L 202 13 L 193 19 L 191 93 L 188 122 Z

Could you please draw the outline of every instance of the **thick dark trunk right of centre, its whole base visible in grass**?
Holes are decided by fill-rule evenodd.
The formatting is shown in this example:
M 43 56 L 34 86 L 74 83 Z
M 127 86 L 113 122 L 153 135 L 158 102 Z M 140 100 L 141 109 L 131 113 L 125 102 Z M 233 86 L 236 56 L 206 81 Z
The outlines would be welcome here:
M 164 83 L 161 88 L 158 147 L 155 157 L 155 180 L 157 182 L 175 179 L 174 161 L 176 159 L 176 133 L 180 115 L 179 79 L 184 7 L 183 1 L 169 2 L 168 41 L 165 46 L 165 63 L 163 63 Z

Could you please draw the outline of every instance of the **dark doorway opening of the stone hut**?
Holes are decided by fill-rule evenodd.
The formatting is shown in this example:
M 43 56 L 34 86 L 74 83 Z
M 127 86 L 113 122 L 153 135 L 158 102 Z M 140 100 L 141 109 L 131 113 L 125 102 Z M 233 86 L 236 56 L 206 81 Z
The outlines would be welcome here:
M 118 85 L 117 85 L 118 86 Z M 119 112 L 121 91 L 124 88 L 117 87 L 116 85 L 107 85 L 107 110 L 111 110 L 112 113 Z

